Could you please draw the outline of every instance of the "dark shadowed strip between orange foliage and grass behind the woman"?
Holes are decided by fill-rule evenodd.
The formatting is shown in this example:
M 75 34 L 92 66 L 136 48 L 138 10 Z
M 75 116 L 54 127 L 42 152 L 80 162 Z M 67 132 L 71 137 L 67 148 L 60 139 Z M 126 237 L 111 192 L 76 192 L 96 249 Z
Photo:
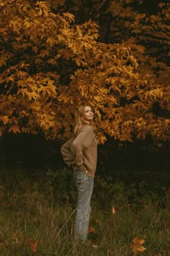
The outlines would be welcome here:
M 61 169 L 66 165 L 61 155 L 63 142 L 45 140 L 42 135 L 6 134 L 0 142 L 1 166 L 21 166 L 45 171 L 48 168 Z M 114 174 L 115 171 L 162 171 L 169 173 L 169 142 L 134 140 L 119 142 L 108 138 L 104 145 L 98 145 L 98 174 Z

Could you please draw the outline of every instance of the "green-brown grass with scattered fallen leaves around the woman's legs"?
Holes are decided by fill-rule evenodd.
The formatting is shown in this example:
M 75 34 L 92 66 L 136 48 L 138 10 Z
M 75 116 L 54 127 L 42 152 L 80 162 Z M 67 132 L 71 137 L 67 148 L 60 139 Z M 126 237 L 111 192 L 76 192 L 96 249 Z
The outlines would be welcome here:
M 99 197 L 102 195 L 99 189 L 107 187 L 108 182 L 102 187 L 104 179 L 101 178 L 99 184 L 98 178 L 91 202 L 90 226 L 94 230 L 89 233 L 89 243 L 74 244 L 76 187 L 71 174 L 50 172 L 49 178 L 49 173 L 47 176 L 31 176 L 24 174 L 22 169 L 1 168 L 0 178 L 0 255 L 170 255 L 168 189 L 166 192 L 164 188 L 164 195 L 161 191 L 160 197 L 151 198 L 153 193 L 149 193 L 149 197 L 140 197 L 138 202 L 138 197 L 133 197 L 135 202 L 130 197 L 128 203 L 126 192 L 129 190 L 124 188 L 120 195 L 119 187 L 115 193 L 120 195 L 121 203 L 119 198 L 114 201 L 116 213 L 112 214 L 112 200 L 104 203 L 108 194 L 105 195 L 103 190 L 103 197 Z M 61 184 L 60 179 L 65 182 Z M 108 187 L 111 189 L 110 184 Z M 139 241 L 143 239 L 143 244 L 134 244 L 135 237 Z M 99 247 L 93 248 L 91 242 Z M 139 252 L 142 246 L 146 250 Z

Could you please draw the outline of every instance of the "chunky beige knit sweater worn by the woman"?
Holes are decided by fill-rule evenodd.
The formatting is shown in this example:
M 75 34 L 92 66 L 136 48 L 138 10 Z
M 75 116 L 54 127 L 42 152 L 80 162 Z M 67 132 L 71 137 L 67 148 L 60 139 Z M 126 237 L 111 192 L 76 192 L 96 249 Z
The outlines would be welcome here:
M 94 177 L 97 168 L 97 140 L 93 128 L 86 124 L 81 127 L 77 136 L 71 137 L 62 147 L 63 160 L 74 170 L 88 171 L 84 173 Z

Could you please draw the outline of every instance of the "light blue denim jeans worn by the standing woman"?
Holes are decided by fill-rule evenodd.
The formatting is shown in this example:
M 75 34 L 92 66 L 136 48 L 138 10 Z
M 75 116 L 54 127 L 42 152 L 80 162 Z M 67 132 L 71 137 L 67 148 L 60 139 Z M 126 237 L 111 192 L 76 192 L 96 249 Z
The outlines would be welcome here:
M 73 172 L 73 177 L 78 191 L 74 237 L 75 240 L 80 239 L 81 241 L 84 241 L 89 228 L 89 218 L 91 213 L 90 203 L 94 187 L 94 178 L 87 176 L 83 171 L 79 170 Z

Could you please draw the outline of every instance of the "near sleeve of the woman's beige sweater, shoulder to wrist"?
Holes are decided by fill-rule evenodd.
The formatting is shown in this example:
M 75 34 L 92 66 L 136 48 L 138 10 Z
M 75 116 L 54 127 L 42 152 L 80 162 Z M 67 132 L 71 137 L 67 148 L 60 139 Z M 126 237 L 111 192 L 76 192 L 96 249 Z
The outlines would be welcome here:
M 71 153 L 73 155 L 74 161 L 72 164 L 73 166 L 77 166 L 80 170 L 84 168 L 83 152 L 86 150 L 86 148 L 89 148 L 93 139 L 93 128 L 90 125 L 86 125 L 85 127 L 81 128 L 79 135 L 77 135 L 75 140 L 73 140 L 71 145 Z

